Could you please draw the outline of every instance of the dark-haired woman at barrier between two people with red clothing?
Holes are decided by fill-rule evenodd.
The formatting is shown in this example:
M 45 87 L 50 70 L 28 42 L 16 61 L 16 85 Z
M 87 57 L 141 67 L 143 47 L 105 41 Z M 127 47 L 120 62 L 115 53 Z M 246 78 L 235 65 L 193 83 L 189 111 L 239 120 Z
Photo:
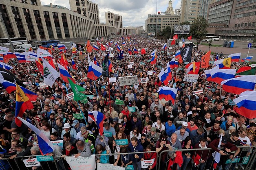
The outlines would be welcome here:
M 185 149 L 184 151 L 182 151 L 182 157 L 183 157 L 183 163 L 181 168 L 183 170 L 185 170 L 188 166 L 188 163 L 191 159 L 191 152 L 190 149 L 192 149 L 193 147 L 191 146 L 191 139 L 190 137 L 186 137 L 183 144 L 182 144 L 182 149 Z

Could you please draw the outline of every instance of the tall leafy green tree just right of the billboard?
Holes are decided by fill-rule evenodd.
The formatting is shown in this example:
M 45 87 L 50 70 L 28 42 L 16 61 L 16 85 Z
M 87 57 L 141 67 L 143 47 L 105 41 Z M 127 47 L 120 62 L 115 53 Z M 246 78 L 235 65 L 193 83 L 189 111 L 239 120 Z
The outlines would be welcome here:
M 190 26 L 190 34 L 194 39 L 196 39 L 197 48 L 201 40 L 204 39 L 207 34 L 206 28 L 208 25 L 208 22 L 204 18 L 199 17 L 194 20 Z

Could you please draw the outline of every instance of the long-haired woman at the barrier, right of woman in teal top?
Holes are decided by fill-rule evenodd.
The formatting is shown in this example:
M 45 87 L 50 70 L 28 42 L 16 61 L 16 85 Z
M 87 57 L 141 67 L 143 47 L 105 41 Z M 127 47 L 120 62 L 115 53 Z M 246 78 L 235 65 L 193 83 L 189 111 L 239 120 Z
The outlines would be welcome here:
M 113 164 L 114 166 L 121 166 L 120 155 L 117 155 L 117 153 L 120 153 L 120 147 L 113 139 L 108 140 L 107 154 L 109 153 L 114 154 L 109 157 L 109 163 Z

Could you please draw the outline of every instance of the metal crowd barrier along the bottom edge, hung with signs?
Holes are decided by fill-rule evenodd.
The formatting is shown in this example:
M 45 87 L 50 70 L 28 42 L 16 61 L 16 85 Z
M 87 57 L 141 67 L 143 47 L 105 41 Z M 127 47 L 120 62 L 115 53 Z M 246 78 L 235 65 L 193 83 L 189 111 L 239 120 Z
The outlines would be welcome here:
M 238 170 L 252 170 L 255 169 L 256 164 L 256 149 L 255 146 L 238 146 L 240 148 L 240 152 L 238 155 L 230 159 L 230 155 L 221 156 L 220 162 L 218 163 L 218 168 L 222 170 L 234 170 L 235 168 Z M 222 148 L 219 148 L 222 149 Z M 185 156 L 182 154 L 183 151 L 189 151 L 191 153 L 190 156 Z M 247 153 L 251 152 L 249 156 Z M 68 164 L 72 166 L 75 170 L 81 169 L 81 166 L 84 164 L 83 170 L 92 170 L 92 168 L 96 165 L 100 165 L 98 170 L 104 169 L 104 164 L 97 163 L 97 159 L 100 159 L 101 156 L 108 155 L 115 156 L 120 155 L 119 161 L 126 160 L 126 162 L 130 162 L 134 155 L 142 154 L 142 158 L 144 159 L 135 159 L 135 162 L 130 163 L 126 170 L 140 170 L 141 168 L 147 169 L 147 166 L 152 165 L 155 161 L 155 166 L 153 170 L 212 170 L 214 168 L 214 163 L 216 160 L 216 153 L 211 148 L 200 148 L 200 149 L 181 149 L 181 150 L 163 150 L 161 153 L 157 153 L 156 151 L 150 152 L 134 152 L 134 153 L 109 153 L 109 154 L 95 154 L 91 155 L 88 158 L 76 159 L 73 156 L 66 156 L 62 158 L 61 156 L 42 156 L 42 155 L 31 155 L 24 157 L 16 157 L 14 159 L 3 158 L 0 161 L 0 169 L 2 170 L 31 170 L 31 167 L 36 166 L 38 169 L 42 170 L 68 170 Z M 207 155 L 206 161 L 201 161 L 201 157 L 205 157 Z M 146 155 L 146 157 L 144 157 Z M 154 161 L 152 161 L 152 159 Z M 186 159 L 188 158 L 188 159 Z M 215 158 L 215 160 L 214 160 Z M 148 160 L 148 161 L 145 161 Z M 181 161 L 182 160 L 182 161 Z M 185 160 L 185 161 L 184 161 Z M 68 161 L 68 163 L 67 163 Z M 142 162 L 142 163 L 141 163 Z M 191 162 L 191 163 L 190 163 Z M 184 164 L 185 163 L 185 164 Z M 73 166 L 76 165 L 76 166 Z M 89 166 L 87 166 L 88 164 Z M 184 166 L 184 165 L 186 166 Z M 238 165 L 237 165 L 238 164 Z M 126 164 L 125 164 L 126 165 Z M 125 166 L 124 165 L 124 166 Z M 142 165 L 142 167 L 141 167 Z M 113 165 L 108 165 L 108 168 Z M 133 166 L 133 167 L 129 167 Z M 184 169 L 186 167 L 186 169 Z M 221 168 L 220 168 L 221 167 Z M 106 168 L 105 168 L 106 169 Z M 118 170 L 118 168 L 115 168 Z M 121 169 L 120 169 L 121 170 Z

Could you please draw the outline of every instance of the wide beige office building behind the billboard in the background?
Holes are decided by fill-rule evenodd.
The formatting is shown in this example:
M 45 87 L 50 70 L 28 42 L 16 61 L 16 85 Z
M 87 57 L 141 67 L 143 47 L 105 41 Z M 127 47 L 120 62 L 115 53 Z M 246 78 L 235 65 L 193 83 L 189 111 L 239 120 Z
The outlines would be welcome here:
M 148 14 L 148 18 L 145 22 L 146 33 L 158 33 L 163 31 L 167 26 L 174 27 L 174 25 L 179 25 L 178 15 L 156 15 Z M 157 29 L 157 30 L 156 30 Z

